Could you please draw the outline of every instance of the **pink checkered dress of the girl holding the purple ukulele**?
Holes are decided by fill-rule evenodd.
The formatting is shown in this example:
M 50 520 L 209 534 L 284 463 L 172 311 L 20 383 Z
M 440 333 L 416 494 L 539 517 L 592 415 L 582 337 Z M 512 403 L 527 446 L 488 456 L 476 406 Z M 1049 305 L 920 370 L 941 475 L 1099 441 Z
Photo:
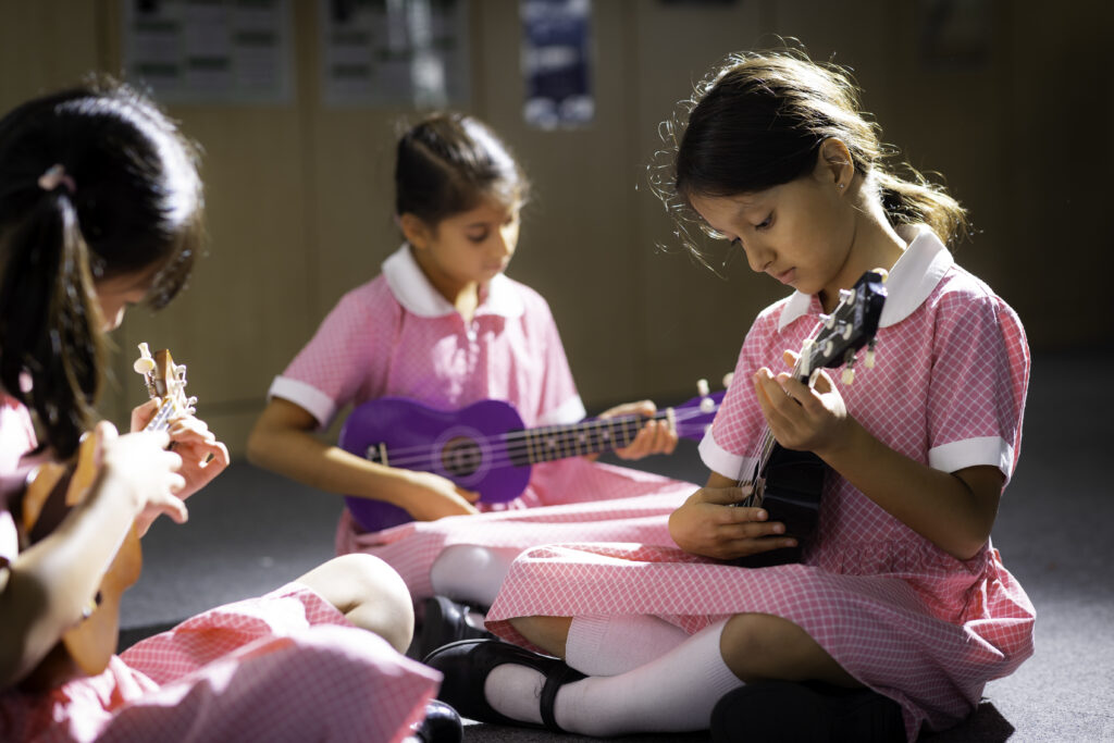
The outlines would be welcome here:
M 584 418 L 565 350 L 548 304 L 534 290 L 496 276 L 471 323 L 430 285 L 407 246 L 393 253 L 373 281 L 349 292 L 314 338 L 275 379 L 271 395 L 290 400 L 322 427 L 348 404 L 399 395 L 456 410 L 486 399 L 512 403 L 527 427 Z M 627 468 L 579 458 L 535 466 L 526 491 L 492 511 L 434 522 L 405 524 L 364 534 L 348 509 L 336 551 L 370 553 L 390 563 L 416 599 L 429 596 L 429 570 L 443 547 L 470 544 L 525 549 L 570 537 L 659 541 L 655 527 L 626 522 L 652 509 L 667 515 L 695 489 Z M 655 505 L 627 498 L 663 495 Z M 570 504 L 620 499 L 614 507 Z M 558 507 L 550 514 L 549 507 Z M 530 509 L 530 512 L 524 512 Z M 575 514 L 583 514 L 576 517 Z M 570 527 L 583 518 L 590 528 Z M 548 528 L 553 520 L 556 526 Z M 664 538 L 667 540 L 668 536 Z

